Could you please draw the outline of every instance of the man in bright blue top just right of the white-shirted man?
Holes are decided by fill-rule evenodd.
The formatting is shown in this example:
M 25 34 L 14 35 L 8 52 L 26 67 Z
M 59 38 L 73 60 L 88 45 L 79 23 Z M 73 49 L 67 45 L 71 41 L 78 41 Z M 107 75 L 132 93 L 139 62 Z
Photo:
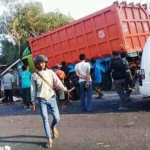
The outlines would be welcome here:
M 95 59 L 92 59 L 91 63 L 93 65 L 93 71 L 92 71 L 93 89 L 98 93 L 98 97 L 96 97 L 96 99 L 101 99 L 102 96 L 104 95 L 101 91 L 102 72 L 105 72 L 105 70 L 103 67 L 101 67 L 96 63 Z

